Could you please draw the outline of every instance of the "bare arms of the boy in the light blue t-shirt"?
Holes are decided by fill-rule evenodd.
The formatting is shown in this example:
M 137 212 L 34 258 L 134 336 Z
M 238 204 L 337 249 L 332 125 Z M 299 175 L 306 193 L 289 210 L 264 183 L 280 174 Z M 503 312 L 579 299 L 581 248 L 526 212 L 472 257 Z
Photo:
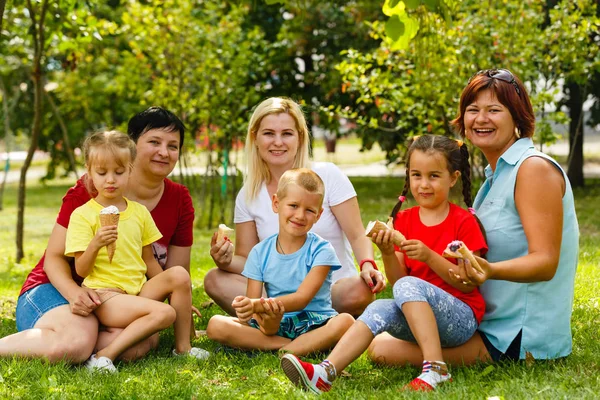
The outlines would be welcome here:
M 331 267 L 328 265 L 312 267 L 295 293 L 277 297 L 275 301 L 280 301 L 288 312 L 303 310 L 315 297 L 323 282 L 325 282 L 330 269 Z M 258 297 L 260 297 L 260 294 Z M 252 308 L 255 313 L 265 312 L 260 298 L 252 298 Z

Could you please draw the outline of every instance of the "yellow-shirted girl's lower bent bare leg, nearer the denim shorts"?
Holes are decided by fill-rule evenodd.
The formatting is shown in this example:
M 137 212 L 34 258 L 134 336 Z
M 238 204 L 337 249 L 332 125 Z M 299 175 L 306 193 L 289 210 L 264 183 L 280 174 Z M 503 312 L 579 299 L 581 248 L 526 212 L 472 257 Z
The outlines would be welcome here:
M 103 324 L 124 328 L 108 346 L 97 353 L 98 357 L 108 357 L 111 360 L 115 360 L 132 345 L 167 328 L 175 321 L 173 307 L 131 295 L 119 294 L 94 312 Z

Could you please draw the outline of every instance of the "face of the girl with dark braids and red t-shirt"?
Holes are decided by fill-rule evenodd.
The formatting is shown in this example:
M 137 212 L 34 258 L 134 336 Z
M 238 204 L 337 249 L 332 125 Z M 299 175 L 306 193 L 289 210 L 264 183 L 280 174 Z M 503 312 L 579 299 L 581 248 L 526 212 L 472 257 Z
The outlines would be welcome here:
M 427 209 L 445 207 L 450 189 L 456 184 L 460 172 L 448 171 L 443 154 L 414 150 L 410 155 L 410 192 L 419 204 Z

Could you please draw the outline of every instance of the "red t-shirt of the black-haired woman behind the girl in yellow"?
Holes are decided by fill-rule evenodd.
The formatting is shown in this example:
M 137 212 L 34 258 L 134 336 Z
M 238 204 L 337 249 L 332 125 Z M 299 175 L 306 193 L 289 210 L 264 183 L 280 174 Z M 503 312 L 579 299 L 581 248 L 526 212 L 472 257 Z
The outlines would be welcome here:
M 163 237 L 152 244 L 154 257 L 164 268 L 167 262 L 167 249 L 170 245 L 189 247 L 194 240 L 194 206 L 189 191 L 183 185 L 165 179 L 165 190 L 154 210 L 150 212 L 158 230 Z M 63 197 L 63 204 L 58 212 L 56 223 L 67 228 L 71 213 L 75 209 L 90 200 L 90 194 L 85 188 L 84 178 L 80 178 L 75 186 L 67 191 Z M 48 276 L 44 272 L 44 259 L 46 253 L 29 273 L 21 288 L 19 296 L 38 285 L 49 283 Z M 69 260 L 71 275 L 78 284 L 83 279 L 75 272 L 73 259 Z

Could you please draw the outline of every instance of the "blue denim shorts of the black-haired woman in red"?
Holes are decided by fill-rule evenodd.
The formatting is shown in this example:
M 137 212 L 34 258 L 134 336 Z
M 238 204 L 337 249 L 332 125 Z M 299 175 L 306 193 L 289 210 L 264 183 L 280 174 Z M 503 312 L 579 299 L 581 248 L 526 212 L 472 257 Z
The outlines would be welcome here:
M 17 330 L 33 328 L 42 315 L 65 304 L 69 302 L 51 283 L 29 289 L 17 301 Z

